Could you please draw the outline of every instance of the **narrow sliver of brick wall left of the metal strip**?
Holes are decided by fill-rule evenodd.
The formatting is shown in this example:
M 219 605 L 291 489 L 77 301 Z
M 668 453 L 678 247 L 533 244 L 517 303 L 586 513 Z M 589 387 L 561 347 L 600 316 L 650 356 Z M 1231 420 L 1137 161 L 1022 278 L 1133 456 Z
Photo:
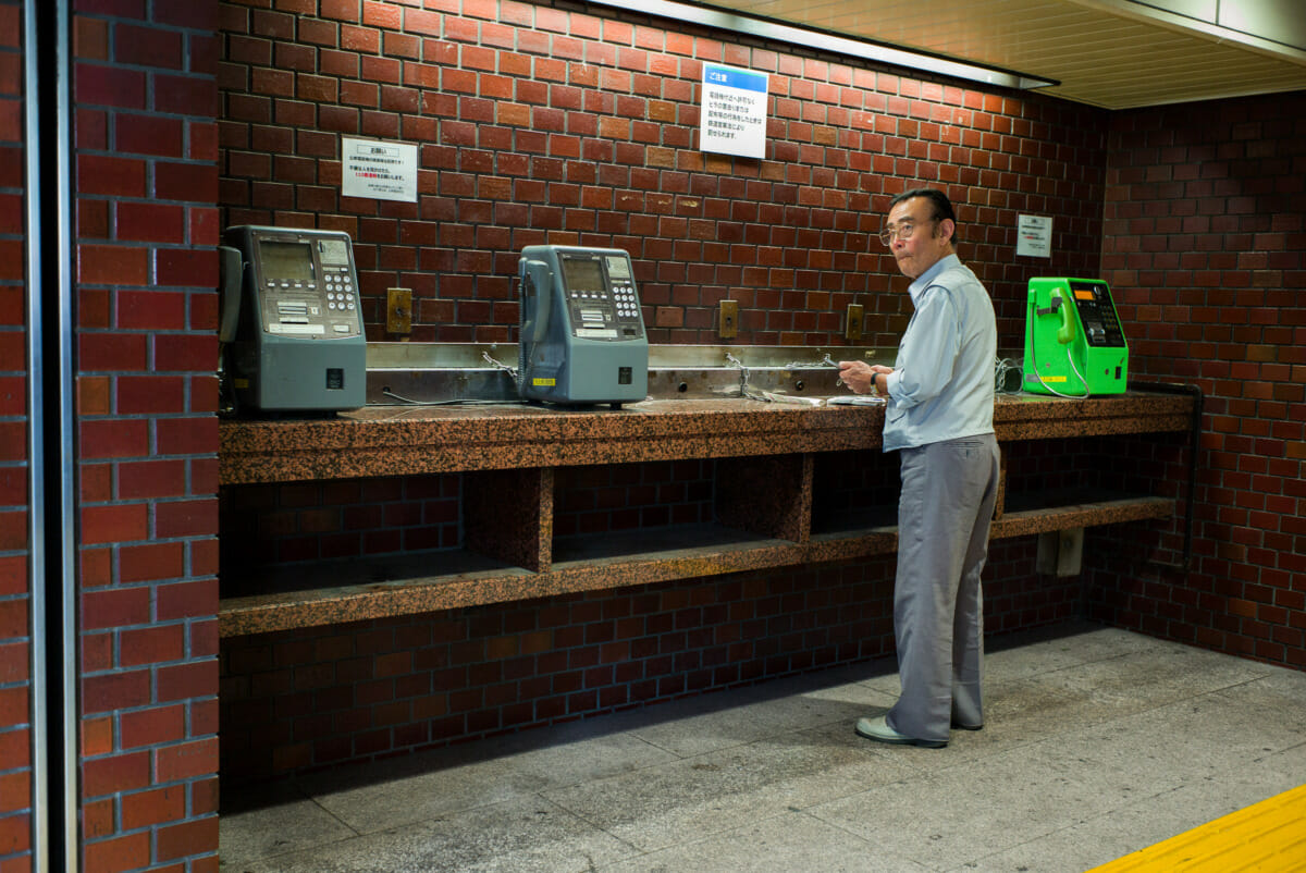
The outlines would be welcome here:
M 22 31 L 0 0 L 0 873 L 30 869 L 34 810 Z

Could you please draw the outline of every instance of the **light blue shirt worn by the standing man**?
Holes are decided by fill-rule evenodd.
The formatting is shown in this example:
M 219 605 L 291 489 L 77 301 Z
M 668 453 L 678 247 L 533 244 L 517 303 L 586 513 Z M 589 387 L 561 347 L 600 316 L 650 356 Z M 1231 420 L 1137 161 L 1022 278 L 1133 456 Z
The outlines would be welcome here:
M 916 312 L 885 376 L 884 451 L 991 434 L 998 325 L 989 291 L 947 255 L 908 293 Z

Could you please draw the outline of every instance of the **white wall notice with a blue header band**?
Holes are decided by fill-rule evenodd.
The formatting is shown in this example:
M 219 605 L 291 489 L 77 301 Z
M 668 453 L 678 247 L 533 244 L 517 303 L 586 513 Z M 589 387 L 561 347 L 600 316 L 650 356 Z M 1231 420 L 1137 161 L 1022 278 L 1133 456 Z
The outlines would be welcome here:
M 767 73 L 704 64 L 699 150 L 765 157 L 768 86 Z

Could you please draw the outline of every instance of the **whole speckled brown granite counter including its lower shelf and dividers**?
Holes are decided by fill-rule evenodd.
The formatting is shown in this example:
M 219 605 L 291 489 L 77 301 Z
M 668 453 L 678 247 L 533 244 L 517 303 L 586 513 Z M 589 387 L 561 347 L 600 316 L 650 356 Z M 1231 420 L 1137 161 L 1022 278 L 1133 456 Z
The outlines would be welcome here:
M 1192 397 L 1002 396 L 1000 442 L 1186 431 Z M 878 450 L 883 405 L 649 400 L 623 409 L 372 406 L 332 418 L 225 421 L 222 484 L 462 472 L 462 549 L 269 567 L 223 596 L 219 634 L 239 636 L 580 591 L 888 554 L 897 531 L 812 529 L 814 453 Z M 721 459 L 717 520 L 572 541 L 552 536 L 558 467 Z M 495 498 L 513 494 L 511 512 Z M 1164 519 L 1174 501 L 1076 491 L 1010 506 L 995 538 Z

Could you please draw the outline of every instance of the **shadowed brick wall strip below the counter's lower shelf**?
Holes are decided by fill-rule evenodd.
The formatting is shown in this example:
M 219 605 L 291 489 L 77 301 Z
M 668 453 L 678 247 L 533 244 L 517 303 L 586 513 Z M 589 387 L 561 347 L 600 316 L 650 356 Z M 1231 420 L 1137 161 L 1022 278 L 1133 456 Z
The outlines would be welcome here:
M 990 627 L 1079 614 L 1032 541 L 993 550 Z M 892 557 L 223 640 L 232 783 L 893 652 Z

